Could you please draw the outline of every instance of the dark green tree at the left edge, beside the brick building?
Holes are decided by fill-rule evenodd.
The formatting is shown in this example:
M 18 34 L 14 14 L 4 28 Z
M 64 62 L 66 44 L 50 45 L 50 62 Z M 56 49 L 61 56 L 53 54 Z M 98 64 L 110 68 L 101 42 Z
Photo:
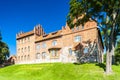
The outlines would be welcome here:
M 7 57 L 9 57 L 9 53 L 8 45 L 2 42 L 2 36 L 0 33 L 0 64 L 2 64 L 7 59 Z

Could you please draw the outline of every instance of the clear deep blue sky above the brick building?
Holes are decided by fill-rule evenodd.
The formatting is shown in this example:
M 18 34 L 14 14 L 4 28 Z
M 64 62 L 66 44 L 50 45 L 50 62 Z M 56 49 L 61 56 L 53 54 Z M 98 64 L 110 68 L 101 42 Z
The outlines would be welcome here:
M 46 33 L 65 26 L 69 0 L 0 0 L 0 30 L 10 54 L 16 54 L 16 34 L 41 24 Z

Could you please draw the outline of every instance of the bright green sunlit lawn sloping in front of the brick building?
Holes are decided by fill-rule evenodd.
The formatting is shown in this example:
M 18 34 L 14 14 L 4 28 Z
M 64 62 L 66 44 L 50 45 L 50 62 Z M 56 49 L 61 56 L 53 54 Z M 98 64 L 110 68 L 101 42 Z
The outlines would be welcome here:
M 96 64 L 27 64 L 0 69 L 0 80 L 120 80 L 120 66 L 114 73 L 105 75 Z

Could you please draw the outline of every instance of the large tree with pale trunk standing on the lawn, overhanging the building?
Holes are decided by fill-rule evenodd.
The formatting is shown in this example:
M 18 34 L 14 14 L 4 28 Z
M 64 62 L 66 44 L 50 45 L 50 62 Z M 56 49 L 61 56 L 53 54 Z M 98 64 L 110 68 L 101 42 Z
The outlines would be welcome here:
M 82 16 L 82 18 L 79 18 Z M 76 22 L 74 21 L 76 19 Z M 71 0 L 67 22 L 72 28 L 92 19 L 102 31 L 106 49 L 106 73 L 111 73 L 112 56 L 120 35 L 120 0 Z M 113 60 L 114 61 L 114 60 Z

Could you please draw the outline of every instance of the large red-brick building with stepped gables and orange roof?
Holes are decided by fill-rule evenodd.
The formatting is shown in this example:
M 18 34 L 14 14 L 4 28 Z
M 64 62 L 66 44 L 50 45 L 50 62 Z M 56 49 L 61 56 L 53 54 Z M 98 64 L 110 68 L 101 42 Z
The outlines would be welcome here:
M 16 64 L 49 62 L 102 62 L 103 45 L 94 21 L 46 34 L 41 25 L 16 35 Z

